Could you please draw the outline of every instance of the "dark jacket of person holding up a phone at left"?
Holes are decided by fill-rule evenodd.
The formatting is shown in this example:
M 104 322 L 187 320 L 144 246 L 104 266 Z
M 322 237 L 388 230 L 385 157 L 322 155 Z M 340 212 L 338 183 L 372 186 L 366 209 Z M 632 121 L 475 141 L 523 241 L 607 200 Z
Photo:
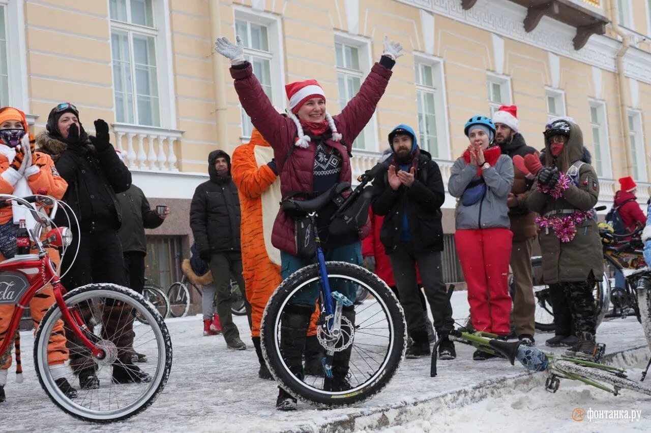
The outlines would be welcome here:
M 119 231 L 122 251 L 146 254 L 145 229 L 157 228 L 163 224 L 163 218 L 152 211 L 145 193 L 135 185 L 117 195 L 122 207 L 122 227 Z

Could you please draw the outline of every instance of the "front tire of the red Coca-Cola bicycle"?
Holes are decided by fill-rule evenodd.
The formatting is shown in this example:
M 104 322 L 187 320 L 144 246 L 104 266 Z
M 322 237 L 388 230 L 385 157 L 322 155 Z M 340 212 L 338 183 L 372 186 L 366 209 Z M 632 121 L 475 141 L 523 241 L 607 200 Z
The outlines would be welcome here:
M 167 326 L 165 326 L 165 322 L 163 321 L 163 317 L 161 317 L 158 311 L 156 311 L 156 309 L 154 309 L 154 307 L 149 302 L 146 302 L 145 298 L 143 298 L 142 295 L 139 295 L 138 293 L 135 293 L 126 287 L 107 283 L 89 284 L 68 292 L 64 296 L 64 301 L 68 307 L 75 306 L 76 304 L 80 306 L 87 306 L 90 305 L 92 299 L 94 298 L 102 300 L 104 306 L 107 305 L 107 299 L 111 299 L 114 302 L 121 302 L 122 304 L 112 303 L 112 305 L 128 305 L 135 309 L 137 313 L 145 316 L 146 321 L 148 322 L 148 326 L 151 327 L 151 331 L 145 332 L 144 335 L 147 335 L 147 341 L 145 341 L 143 344 L 150 345 L 150 347 L 152 347 L 151 353 L 156 355 L 155 360 L 152 360 L 152 358 L 154 358 L 153 356 L 149 356 L 149 359 L 146 363 L 155 369 L 154 374 L 150 374 L 152 380 L 146 383 L 141 382 L 141 384 L 120 385 L 113 384 L 111 380 L 107 381 L 108 384 L 104 382 L 104 384 L 102 384 L 103 386 L 100 386 L 100 388 L 98 388 L 98 391 L 96 391 L 99 396 L 99 393 L 102 390 L 105 391 L 106 387 L 109 388 L 108 406 L 104 406 L 104 410 L 102 410 L 101 404 L 98 404 L 97 410 L 83 406 L 84 402 L 88 402 L 87 404 L 89 404 L 89 406 L 90 404 L 93 404 L 94 399 L 92 396 L 90 400 L 88 399 L 88 394 L 94 392 L 92 389 L 80 389 L 79 396 L 76 399 L 70 399 L 67 397 L 64 393 L 62 393 L 57 384 L 55 384 L 55 378 L 52 375 L 51 367 L 48 366 L 49 336 L 51 334 L 57 333 L 54 328 L 57 324 L 57 321 L 59 321 L 59 319 L 62 317 L 61 310 L 57 304 L 54 304 L 51 306 L 51 308 L 48 309 L 48 312 L 43 317 L 43 320 L 38 327 L 38 332 L 36 333 L 36 339 L 34 343 L 34 365 L 36 369 L 36 375 L 38 376 L 38 380 L 48 395 L 49 399 L 52 400 L 55 405 L 61 408 L 61 410 L 68 413 L 72 417 L 75 417 L 76 419 L 80 419 L 82 421 L 102 424 L 112 423 L 115 421 L 124 421 L 125 419 L 131 418 L 138 413 L 143 412 L 143 410 L 151 406 L 154 400 L 158 398 L 158 395 L 161 393 L 161 391 L 163 391 L 172 367 L 172 342 L 167 330 Z M 104 307 L 102 307 L 102 313 L 104 313 Z M 99 330 L 101 330 L 103 326 L 103 324 L 96 322 L 90 322 L 87 323 L 87 325 L 90 328 L 98 328 Z M 64 326 L 68 326 L 68 324 L 64 324 Z M 141 324 L 141 326 L 146 325 Z M 134 326 L 133 328 L 135 331 L 136 327 Z M 71 331 L 69 330 L 69 332 Z M 94 333 L 92 329 L 87 329 L 84 332 L 87 334 Z M 130 332 L 130 330 L 124 330 L 124 332 Z M 150 333 L 152 335 L 149 335 Z M 144 335 L 142 336 L 144 337 Z M 133 341 L 133 343 L 136 341 Z M 138 347 L 134 345 L 133 348 Z M 71 352 L 73 350 L 73 348 L 70 348 Z M 117 347 L 116 350 L 117 353 L 120 353 L 120 351 L 124 350 L 124 348 Z M 101 368 L 102 367 L 98 369 L 98 373 L 101 372 Z M 111 368 L 115 367 L 112 367 L 111 364 Z M 72 378 L 72 375 L 69 377 Z M 124 396 L 128 396 L 130 391 L 133 391 L 133 388 L 138 385 L 142 385 L 143 387 L 146 387 L 146 389 L 139 396 L 137 396 L 137 399 L 135 399 L 130 404 L 124 404 L 124 407 L 122 408 L 111 410 L 111 403 L 113 402 L 111 398 L 115 399 L 117 404 L 120 404 L 120 401 L 118 401 L 118 390 L 122 391 L 122 397 L 124 399 Z M 111 387 L 113 386 L 116 386 L 116 388 L 113 394 L 111 394 Z M 83 395 L 84 393 L 85 395 Z

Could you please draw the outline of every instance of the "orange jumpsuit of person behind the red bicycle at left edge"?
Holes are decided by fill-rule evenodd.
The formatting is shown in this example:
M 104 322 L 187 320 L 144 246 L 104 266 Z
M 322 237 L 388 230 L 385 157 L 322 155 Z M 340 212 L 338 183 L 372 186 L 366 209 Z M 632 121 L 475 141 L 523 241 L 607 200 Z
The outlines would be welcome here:
M 63 177 L 59 176 L 51 157 L 46 153 L 40 152 L 33 153 L 32 157 L 33 166 L 38 166 L 39 170 L 35 174 L 27 177 L 27 183 L 31 190 L 37 192 L 39 189 L 44 189 L 48 192 L 49 196 L 61 199 L 68 188 L 68 183 L 66 183 Z M 0 154 L 0 173 L 9 168 L 10 162 L 11 161 L 8 161 L 5 155 Z M 0 194 L 12 194 L 13 191 L 14 186 L 3 179 L 3 177 L 0 177 Z M 11 218 L 11 207 L 0 209 L 0 224 L 7 223 Z M 56 250 L 50 248 L 48 249 L 48 254 L 52 261 L 54 261 L 55 265 L 58 265 L 59 254 Z M 0 254 L 0 261 L 2 260 L 5 260 L 5 257 Z M 29 302 L 35 332 L 46 311 L 48 311 L 54 302 L 55 300 L 51 285 L 48 285 L 48 287 L 37 293 L 36 296 L 32 298 L 31 302 Z M 14 308 L 14 305 L 0 305 L 0 341 L 3 341 L 5 338 L 13 338 L 13 335 L 7 335 L 7 331 Z M 9 347 L 8 350 L 11 350 L 11 347 Z M 57 321 L 57 324 L 55 324 L 52 334 L 49 335 L 48 364 L 56 365 L 63 363 L 66 360 L 68 360 L 68 348 L 66 348 L 63 322 L 59 320 Z M 0 369 L 8 369 L 11 366 L 11 361 L 12 358 L 9 356 L 7 362 L 0 366 Z

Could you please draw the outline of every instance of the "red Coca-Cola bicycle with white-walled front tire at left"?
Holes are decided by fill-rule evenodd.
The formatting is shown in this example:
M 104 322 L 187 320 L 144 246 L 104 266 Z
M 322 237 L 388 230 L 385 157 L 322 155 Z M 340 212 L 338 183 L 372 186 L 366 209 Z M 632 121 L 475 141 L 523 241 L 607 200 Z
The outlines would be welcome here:
M 64 412 L 94 423 L 122 421 L 142 412 L 161 393 L 171 370 L 172 345 L 163 317 L 143 296 L 115 284 L 89 284 L 66 291 L 61 285 L 60 265 L 55 266 L 48 249 L 59 249 L 61 257 L 66 254 L 72 244 L 72 231 L 57 228 L 53 218 L 57 209 L 62 209 L 70 226 L 70 218 L 76 219 L 72 209 L 51 196 L 18 198 L 0 194 L 0 207 L 12 203 L 27 207 L 35 218 L 29 235 L 38 254 L 24 254 L 0 263 L 0 304 L 16 306 L 9 330 L 0 340 L 0 355 L 10 350 L 29 301 L 51 285 L 56 302 L 40 322 L 34 343 L 36 374 L 48 397 Z M 46 228 L 51 230 L 43 237 Z M 144 317 L 146 323 L 134 322 L 135 315 Z M 50 337 L 61 338 L 61 327 L 70 360 L 49 365 L 48 342 Z M 124 341 L 128 345 L 123 345 Z M 147 359 L 136 369 L 130 361 L 135 351 Z M 78 380 L 80 368 L 94 371 L 97 380 Z M 114 369 L 120 369 L 122 377 L 125 371 L 133 374 L 127 376 L 128 380 L 116 381 Z M 71 384 L 79 382 L 76 397 L 68 397 L 59 389 L 55 381 L 61 377 Z

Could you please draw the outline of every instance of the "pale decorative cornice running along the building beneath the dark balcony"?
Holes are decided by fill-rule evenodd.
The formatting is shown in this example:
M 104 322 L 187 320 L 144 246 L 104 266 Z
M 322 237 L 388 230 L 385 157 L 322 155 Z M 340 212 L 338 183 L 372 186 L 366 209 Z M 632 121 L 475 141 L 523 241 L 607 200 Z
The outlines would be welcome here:
M 621 42 L 608 36 L 593 34 L 587 44 L 574 49 L 572 40 L 576 29 L 570 25 L 543 17 L 540 24 L 530 33 L 524 29 L 523 21 L 527 8 L 508 0 L 479 0 L 469 9 L 462 8 L 459 0 L 396 0 L 406 5 L 423 8 L 434 14 L 478 27 L 500 36 L 523 42 L 550 51 L 563 57 L 597 66 L 615 72 L 615 55 Z M 651 53 L 631 47 L 624 58 L 624 69 L 628 77 L 651 84 Z

